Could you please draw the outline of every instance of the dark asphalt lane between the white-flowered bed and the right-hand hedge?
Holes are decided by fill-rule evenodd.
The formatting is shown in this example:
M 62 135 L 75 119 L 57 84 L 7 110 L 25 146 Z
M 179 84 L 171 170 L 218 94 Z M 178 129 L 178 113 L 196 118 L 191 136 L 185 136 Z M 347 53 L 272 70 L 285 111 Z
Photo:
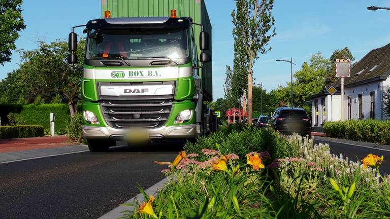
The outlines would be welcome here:
M 335 155 L 343 154 L 343 157 L 348 157 L 349 160 L 352 161 L 358 161 L 362 160 L 364 157 L 366 157 L 368 154 L 374 154 L 378 156 L 384 157 L 384 161 L 382 162 L 380 166 L 380 172 L 383 174 L 384 172 L 390 173 L 390 152 L 389 151 L 383 151 L 373 148 L 364 148 L 364 147 L 358 147 L 355 145 L 345 144 L 345 143 L 336 143 L 336 142 L 330 142 L 330 141 L 322 141 L 322 140 L 316 140 L 314 138 L 314 143 L 328 143 L 331 147 L 331 153 Z

